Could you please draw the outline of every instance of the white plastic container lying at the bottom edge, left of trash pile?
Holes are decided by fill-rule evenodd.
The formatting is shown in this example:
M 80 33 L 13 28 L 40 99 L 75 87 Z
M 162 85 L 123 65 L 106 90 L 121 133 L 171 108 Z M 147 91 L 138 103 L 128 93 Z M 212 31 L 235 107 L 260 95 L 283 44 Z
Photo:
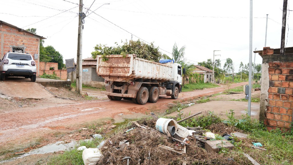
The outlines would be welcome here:
M 98 148 L 87 148 L 82 152 L 84 165 L 95 165 L 101 156 L 102 154 Z

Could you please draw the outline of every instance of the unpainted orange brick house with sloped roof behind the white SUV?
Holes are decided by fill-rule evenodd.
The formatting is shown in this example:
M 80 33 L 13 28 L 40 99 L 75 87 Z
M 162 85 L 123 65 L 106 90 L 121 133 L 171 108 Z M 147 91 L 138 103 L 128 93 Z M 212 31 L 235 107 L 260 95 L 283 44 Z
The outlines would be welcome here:
M 45 38 L 0 20 L 1 59 L 9 51 L 29 53 L 36 62 L 37 76 L 40 75 L 40 39 Z

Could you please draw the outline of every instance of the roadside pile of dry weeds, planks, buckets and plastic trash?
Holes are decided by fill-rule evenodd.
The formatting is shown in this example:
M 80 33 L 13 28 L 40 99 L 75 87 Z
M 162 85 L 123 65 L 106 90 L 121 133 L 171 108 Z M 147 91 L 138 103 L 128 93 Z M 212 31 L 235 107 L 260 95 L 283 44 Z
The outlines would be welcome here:
M 234 148 L 231 135 L 224 134 L 222 140 L 216 140 L 214 133 L 205 132 L 202 127 L 185 128 L 179 125 L 178 123 L 183 120 L 186 118 L 177 122 L 165 118 L 155 118 L 147 122 L 132 121 L 124 132 L 118 132 L 105 139 L 95 149 L 85 149 L 84 163 L 85 165 L 239 164 L 233 157 L 216 154 L 221 148 L 228 150 Z M 235 133 L 235 136 L 245 135 L 240 132 Z

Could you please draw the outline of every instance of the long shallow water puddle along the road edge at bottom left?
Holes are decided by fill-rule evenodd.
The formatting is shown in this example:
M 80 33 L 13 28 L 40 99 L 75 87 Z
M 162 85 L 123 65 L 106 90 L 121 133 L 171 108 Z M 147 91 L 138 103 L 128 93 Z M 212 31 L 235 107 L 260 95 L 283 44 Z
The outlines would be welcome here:
M 76 142 L 76 141 L 72 141 L 70 143 L 64 143 L 63 141 L 59 141 L 54 144 L 45 145 L 45 146 L 37 148 L 35 150 L 31 150 L 31 151 L 26 152 L 24 154 L 17 154 L 17 155 L 13 155 L 12 157 L 0 159 L 0 163 L 14 161 L 15 159 L 23 158 L 23 157 L 34 155 L 34 154 L 47 154 L 47 153 L 52 153 L 52 152 L 57 152 L 57 151 L 70 150 L 70 149 L 74 148 L 74 146 L 77 143 L 78 142 Z

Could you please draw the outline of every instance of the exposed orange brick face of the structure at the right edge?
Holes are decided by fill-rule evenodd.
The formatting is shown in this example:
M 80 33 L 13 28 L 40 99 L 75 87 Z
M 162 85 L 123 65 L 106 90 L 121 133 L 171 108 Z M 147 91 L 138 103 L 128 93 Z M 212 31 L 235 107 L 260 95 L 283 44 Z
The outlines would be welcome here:
M 293 62 L 268 62 L 269 89 L 265 125 L 288 130 L 292 122 Z

